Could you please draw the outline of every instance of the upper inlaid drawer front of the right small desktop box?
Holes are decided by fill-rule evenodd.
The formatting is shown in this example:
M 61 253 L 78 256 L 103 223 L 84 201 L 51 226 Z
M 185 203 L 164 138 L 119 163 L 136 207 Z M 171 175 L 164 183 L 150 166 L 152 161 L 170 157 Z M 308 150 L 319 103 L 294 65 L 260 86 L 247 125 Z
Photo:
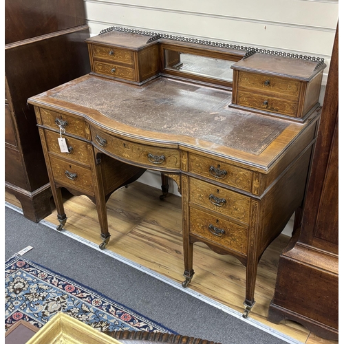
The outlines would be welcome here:
M 239 72 L 239 87 L 268 92 L 278 98 L 299 99 L 301 82 L 276 76 Z

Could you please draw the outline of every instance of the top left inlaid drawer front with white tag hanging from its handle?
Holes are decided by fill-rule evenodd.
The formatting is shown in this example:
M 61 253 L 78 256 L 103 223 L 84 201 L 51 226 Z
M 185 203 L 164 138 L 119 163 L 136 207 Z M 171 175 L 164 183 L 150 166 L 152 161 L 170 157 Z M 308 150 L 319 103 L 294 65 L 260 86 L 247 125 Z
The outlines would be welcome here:
M 80 118 L 75 118 L 58 112 L 40 108 L 43 125 L 60 130 L 62 133 L 71 133 L 83 138 L 87 138 L 85 122 Z

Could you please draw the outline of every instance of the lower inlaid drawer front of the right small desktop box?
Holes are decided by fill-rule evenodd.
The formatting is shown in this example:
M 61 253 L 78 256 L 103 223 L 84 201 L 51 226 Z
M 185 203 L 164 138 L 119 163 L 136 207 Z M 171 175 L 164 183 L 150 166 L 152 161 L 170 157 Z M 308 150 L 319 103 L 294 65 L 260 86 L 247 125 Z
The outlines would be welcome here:
M 261 94 L 252 94 L 239 91 L 237 94 L 237 104 L 244 107 L 254 107 L 255 109 L 272 111 L 277 114 L 297 116 L 297 102 L 272 98 Z

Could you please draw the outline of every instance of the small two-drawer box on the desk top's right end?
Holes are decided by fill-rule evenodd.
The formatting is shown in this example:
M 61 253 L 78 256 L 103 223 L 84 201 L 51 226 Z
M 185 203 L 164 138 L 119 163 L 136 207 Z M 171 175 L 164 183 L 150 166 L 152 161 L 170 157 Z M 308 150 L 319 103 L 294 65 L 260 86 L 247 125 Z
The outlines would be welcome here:
M 231 66 L 230 107 L 303 122 L 316 107 L 325 65 L 255 53 Z

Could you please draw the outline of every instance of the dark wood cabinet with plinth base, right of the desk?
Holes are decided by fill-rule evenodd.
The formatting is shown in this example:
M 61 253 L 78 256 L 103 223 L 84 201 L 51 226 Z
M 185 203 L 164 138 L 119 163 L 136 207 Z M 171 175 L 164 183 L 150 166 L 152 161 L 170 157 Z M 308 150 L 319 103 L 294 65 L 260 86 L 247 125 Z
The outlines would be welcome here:
M 338 28 L 301 227 L 279 258 L 268 319 L 338 340 Z

